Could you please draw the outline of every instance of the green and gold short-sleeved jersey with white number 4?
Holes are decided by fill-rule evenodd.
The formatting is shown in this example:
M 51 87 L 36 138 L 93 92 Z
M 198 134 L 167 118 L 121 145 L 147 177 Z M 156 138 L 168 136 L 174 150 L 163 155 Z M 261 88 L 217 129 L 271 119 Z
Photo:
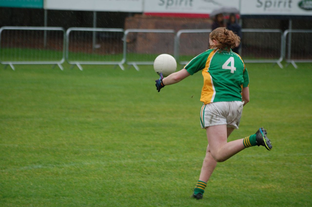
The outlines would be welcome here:
M 202 70 L 204 85 L 200 101 L 241 101 L 241 90 L 249 84 L 244 61 L 232 52 L 208 49 L 193 58 L 184 68 L 193 75 Z

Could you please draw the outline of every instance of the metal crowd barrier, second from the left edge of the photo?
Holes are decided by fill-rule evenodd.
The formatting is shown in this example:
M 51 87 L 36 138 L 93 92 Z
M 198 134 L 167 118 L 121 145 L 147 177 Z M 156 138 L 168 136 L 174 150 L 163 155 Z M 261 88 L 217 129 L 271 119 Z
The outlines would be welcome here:
M 66 61 L 80 70 L 81 64 L 119 65 L 124 70 L 123 36 L 123 29 L 69 28 Z

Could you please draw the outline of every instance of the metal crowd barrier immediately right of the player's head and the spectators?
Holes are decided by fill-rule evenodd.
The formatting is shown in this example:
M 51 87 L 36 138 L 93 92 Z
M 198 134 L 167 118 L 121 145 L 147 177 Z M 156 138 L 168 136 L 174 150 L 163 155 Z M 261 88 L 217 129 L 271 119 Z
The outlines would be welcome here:
M 283 68 L 283 33 L 279 29 L 242 29 L 241 56 L 245 63 L 276 63 Z

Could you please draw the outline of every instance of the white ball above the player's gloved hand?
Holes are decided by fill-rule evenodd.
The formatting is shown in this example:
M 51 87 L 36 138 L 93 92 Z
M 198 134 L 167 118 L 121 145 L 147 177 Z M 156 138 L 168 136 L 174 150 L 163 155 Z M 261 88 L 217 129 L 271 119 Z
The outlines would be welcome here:
M 174 57 L 169 54 L 158 55 L 154 60 L 154 70 L 157 74 L 163 73 L 166 77 L 171 73 L 174 73 L 177 69 L 177 62 Z

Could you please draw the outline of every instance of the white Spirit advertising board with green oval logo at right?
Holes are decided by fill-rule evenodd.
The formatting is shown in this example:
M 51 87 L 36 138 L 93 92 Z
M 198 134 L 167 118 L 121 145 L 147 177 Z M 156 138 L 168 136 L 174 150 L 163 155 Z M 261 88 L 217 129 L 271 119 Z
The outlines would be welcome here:
M 241 15 L 312 16 L 312 0 L 241 0 Z

